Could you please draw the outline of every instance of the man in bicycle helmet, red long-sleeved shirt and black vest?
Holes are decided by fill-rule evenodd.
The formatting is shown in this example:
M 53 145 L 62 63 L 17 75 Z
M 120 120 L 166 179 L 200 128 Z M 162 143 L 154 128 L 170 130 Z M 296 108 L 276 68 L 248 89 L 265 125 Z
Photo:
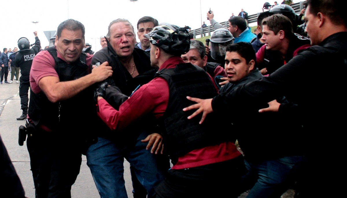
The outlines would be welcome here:
M 217 116 L 212 115 L 199 124 L 198 119 L 187 119 L 192 112 L 183 111 L 185 106 L 194 103 L 187 100 L 187 96 L 208 98 L 217 94 L 211 77 L 202 68 L 184 63 L 180 57 L 189 50 L 186 29 L 171 24 L 154 27 L 146 37 L 151 43 L 151 65 L 159 68 L 156 78 L 137 89 L 119 110 L 107 102 L 108 98 L 100 97 L 107 96 L 109 89 L 103 86 L 97 98 L 98 114 L 113 131 L 151 114 L 158 119 L 165 151 L 174 166 L 167 178 L 154 188 L 153 197 L 232 196 L 236 190 L 225 189 L 237 188 L 245 167 L 229 137 L 231 133 L 215 130 Z M 162 152 L 162 139 L 156 141 L 155 153 Z

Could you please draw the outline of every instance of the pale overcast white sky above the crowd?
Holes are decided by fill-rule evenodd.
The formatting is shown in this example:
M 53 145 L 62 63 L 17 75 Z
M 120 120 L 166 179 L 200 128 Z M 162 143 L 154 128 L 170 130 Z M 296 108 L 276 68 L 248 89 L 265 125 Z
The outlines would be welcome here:
M 265 1 L 201 0 L 202 21 L 210 25 L 206 19 L 206 12 L 210 8 L 214 12 L 214 19 L 222 22 L 228 20 L 231 13 L 237 16 L 242 8 L 249 15 L 261 12 Z M 268 2 L 273 4 L 272 1 L 274 0 Z M 280 3 L 282 0 L 277 1 Z M 135 33 L 137 21 L 143 16 L 156 18 L 159 23 L 181 27 L 187 25 L 192 29 L 201 27 L 200 0 L 4 0 L 1 1 L 0 13 L 1 52 L 3 48 L 13 50 L 17 47 L 20 37 L 27 37 L 33 43 L 34 31 L 37 31 L 41 46 L 48 45 L 43 31 L 57 30 L 58 25 L 68 18 L 78 20 L 85 26 L 85 40 L 92 45 L 94 51 L 101 49 L 100 36 L 107 34 L 108 25 L 117 18 L 128 19 L 134 25 Z M 39 23 L 33 24 L 32 21 Z

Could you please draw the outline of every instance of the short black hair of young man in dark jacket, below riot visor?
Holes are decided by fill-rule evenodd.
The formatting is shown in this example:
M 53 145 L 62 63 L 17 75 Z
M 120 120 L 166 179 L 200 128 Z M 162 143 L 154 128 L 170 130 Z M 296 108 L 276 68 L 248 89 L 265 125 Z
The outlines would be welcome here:
M 236 52 L 240 54 L 242 58 L 246 59 L 247 63 L 249 63 L 251 60 L 254 60 L 254 62 L 256 62 L 255 51 L 251 43 L 246 43 L 246 42 L 233 43 L 226 47 L 226 51 Z

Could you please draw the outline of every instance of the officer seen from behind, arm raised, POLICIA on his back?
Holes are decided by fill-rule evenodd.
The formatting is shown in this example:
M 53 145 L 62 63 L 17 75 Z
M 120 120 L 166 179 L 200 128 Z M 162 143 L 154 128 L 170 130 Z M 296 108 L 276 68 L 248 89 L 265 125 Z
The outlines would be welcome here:
M 19 97 L 20 97 L 20 109 L 22 109 L 22 115 L 17 118 L 17 120 L 25 120 L 28 113 L 28 91 L 29 91 L 29 73 L 31 69 L 31 64 L 37 53 L 39 53 L 41 48 L 41 43 L 39 37 L 37 37 L 37 32 L 35 35 L 35 45 L 30 49 L 29 40 L 25 37 L 19 38 L 18 48 L 19 52 L 15 57 L 15 65 L 20 67 L 20 84 L 19 84 Z

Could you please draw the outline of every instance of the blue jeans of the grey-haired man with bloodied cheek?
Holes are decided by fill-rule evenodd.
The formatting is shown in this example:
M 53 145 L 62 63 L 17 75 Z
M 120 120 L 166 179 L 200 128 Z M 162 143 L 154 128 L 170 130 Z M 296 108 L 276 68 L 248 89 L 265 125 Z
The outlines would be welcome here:
M 147 190 L 148 197 L 154 195 L 154 186 L 164 180 L 164 173 L 169 169 L 169 158 L 146 150 L 147 143 L 141 142 L 146 137 L 147 133 L 142 132 L 136 145 L 126 152 L 100 137 L 98 143 L 88 148 L 87 165 L 101 198 L 128 198 L 123 178 L 124 158 L 134 166 L 136 177 Z

